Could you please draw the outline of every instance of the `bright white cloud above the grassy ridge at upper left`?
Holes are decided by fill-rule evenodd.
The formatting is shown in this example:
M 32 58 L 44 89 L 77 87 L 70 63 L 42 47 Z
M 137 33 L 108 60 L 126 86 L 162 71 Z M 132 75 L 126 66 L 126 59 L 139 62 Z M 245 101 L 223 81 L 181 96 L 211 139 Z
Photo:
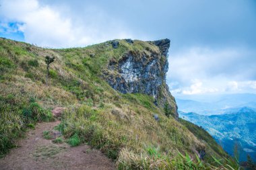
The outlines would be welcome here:
M 1 1 L 2 22 L 24 23 L 18 29 L 24 32 L 26 42 L 38 46 L 85 46 L 114 38 L 133 38 L 122 22 L 100 9 L 88 7 L 85 15 L 77 16 L 69 13 L 69 9 L 58 10 L 39 2 Z

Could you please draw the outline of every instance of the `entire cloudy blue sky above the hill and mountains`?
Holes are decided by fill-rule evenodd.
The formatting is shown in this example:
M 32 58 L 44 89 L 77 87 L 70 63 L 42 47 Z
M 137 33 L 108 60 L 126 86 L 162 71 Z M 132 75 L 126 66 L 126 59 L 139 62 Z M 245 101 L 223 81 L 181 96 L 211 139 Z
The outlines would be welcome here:
M 0 0 L 0 36 L 48 48 L 170 39 L 175 97 L 256 93 L 254 0 Z

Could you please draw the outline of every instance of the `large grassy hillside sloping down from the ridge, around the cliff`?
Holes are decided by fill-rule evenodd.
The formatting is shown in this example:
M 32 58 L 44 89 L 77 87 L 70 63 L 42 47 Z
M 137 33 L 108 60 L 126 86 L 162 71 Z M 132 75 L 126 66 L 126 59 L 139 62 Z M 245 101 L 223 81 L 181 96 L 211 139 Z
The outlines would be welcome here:
M 165 116 L 153 97 L 119 93 L 102 79 L 110 60 L 128 51 L 159 50 L 139 40 L 119 44 L 45 49 L 0 38 L 1 155 L 26 128 L 52 121 L 51 110 L 62 106 L 67 110 L 58 128 L 66 141 L 73 146 L 87 142 L 117 161 L 119 169 L 212 169 L 218 164 L 212 156 L 228 157 L 212 138 L 202 137 L 205 131 Z M 49 86 L 45 56 L 55 56 Z M 203 162 L 197 159 L 201 151 Z

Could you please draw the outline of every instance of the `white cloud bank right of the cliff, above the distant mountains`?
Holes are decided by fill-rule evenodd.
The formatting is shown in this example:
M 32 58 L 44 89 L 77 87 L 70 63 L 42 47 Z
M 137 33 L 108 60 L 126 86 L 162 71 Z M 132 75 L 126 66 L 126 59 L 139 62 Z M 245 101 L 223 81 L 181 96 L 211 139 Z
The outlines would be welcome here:
M 170 53 L 167 73 L 170 90 L 184 95 L 255 93 L 256 60 L 253 54 L 245 48 L 199 47 Z

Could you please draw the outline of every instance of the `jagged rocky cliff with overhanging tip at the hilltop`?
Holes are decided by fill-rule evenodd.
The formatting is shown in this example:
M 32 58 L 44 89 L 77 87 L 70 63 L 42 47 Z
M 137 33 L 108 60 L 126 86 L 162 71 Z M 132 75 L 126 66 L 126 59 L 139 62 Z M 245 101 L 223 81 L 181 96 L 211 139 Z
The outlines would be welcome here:
M 133 46 L 132 40 L 127 40 Z M 168 48 L 170 40 L 147 42 L 143 50 L 129 50 L 119 60 L 110 60 L 104 78 L 121 93 L 145 93 L 152 95 L 155 104 L 178 118 L 177 104 L 166 85 L 168 71 Z M 119 42 L 113 41 L 113 48 Z

